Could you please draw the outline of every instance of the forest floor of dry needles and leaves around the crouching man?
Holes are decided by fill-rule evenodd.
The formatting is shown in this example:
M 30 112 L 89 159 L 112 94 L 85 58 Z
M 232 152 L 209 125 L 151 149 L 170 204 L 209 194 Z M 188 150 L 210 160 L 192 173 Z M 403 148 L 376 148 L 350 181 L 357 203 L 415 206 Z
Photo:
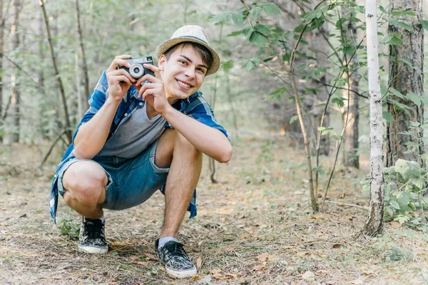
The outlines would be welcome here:
M 49 215 L 59 158 L 52 155 L 39 167 L 46 150 L 1 146 L 0 284 L 428 283 L 422 233 L 392 222 L 382 237 L 360 235 L 367 209 L 358 205 L 369 200 L 360 185 L 369 173 L 367 161 L 362 170 L 337 167 L 329 202 L 314 214 L 307 203 L 305 155 L 285 138 L 241 138 L 233 160 L 218 165 L 215 184 L 205 159 L 198 216 L 186 217 L 180 230 L 198 276 L 178 280 L 154 256 L 163 219 L 160 193 L 138 207 L 105 212 L 108 254 L 78 252 L 78 214 L 60 199 L 56 226 Z M 326 169 L 332 159 L 321 160 Z M 322 175 L 320 189 L 326 182 Z

